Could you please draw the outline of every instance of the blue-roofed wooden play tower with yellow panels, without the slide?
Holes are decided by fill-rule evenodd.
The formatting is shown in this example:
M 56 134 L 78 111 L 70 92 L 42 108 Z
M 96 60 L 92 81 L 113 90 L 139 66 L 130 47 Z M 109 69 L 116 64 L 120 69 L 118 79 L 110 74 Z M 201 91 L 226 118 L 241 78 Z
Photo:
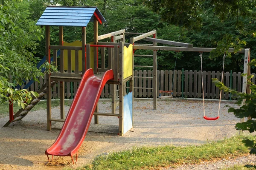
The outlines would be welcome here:
M 86 26 L 89 22 L 93 22 L 94 40 L 92 43 L 86 42 Z M 84 72 L 93 68 L 93 72 L 97 77 L 110 69 L 113 70 L 114 79 L 109 80 L 107 84 L 111 84 L 112 88 L 112 112 L 99 113 L 98 106 L 94 112 L 95 123 L 99 123 L 99 116 L 116 116 L 119 118 L 119 135 L 123 136 L 132 127 L 132 104 L 133 104 L 133 74 L 132 74 L 132 45 L 128 48 L 124 47 L 125 30 L 118 33 L 122 35 L 122 41 L 118 45 L 98 45 L 98 41 L 111 37 L 115 34 L 105 34 L 98 36 L 98 24 L 106 22 L 105 18 L 96 7 L 84 6 L 48 6 L 36 25 L 45 26 L 46 37 L 46 56 L 47 62 L 50 62 L 50 54 L 53 53 L 54 65 L 58 66 L 59 71 L 47 74 L 47 130 L 51 130 L 52 122 L 64 122 L 64 82 L 79 82 Z M 59 26 L 59 44 L 50 45 L 50 26 Z M 81 46 L 64 46 L 63 26 L 81 27 Z M 93 48 L 93 49 L 92 49 Z M 108 68 L 105 68 L 105 55 L 102 55 L 102 67 L 99 68 L 99 50 L 104 54 L 105 49 L 108 52 Z M 59 59 L 57 59 L 57 51 L 60 50 Z M 93 54 L 92 54 L 93 50 Z M 64 53 L 67 52 L 67 58 Z M 81 55 L 79 55 L 81 54 Z M 125 57 L 124 57 L 125 56 Z M 129 92 L 125 93 L 125 83 L 129 81 Z M 51 113 L 51 82 L 60 82 L 60 119 L 52 118 Z M 119 113 L 116 113 L 116 89 L 119 88 Z M 125 98 L 125 96 L 127 96 Z M 130 96 L 128 98 L 128 96 Z

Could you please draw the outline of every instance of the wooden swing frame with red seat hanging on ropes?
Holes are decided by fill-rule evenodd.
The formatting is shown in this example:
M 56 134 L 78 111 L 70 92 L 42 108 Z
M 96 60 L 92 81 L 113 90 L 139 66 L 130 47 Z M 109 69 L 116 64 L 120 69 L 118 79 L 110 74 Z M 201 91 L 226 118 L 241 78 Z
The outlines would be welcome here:
M 219 98 L 219 107 L 218 107 L 218 116 L 216 117 L 209 117 L 205 113 L 205 102 L 204 102 L 204 80 L 203 80 L 203 67 L 202 67 L 202 53 L 203 52 L 211 52 L 215 48 L 197 48 L 193 47 L 192 44 L 183 43 L 183 42 L 175 42 L 175 41 L 169 41 L 169 40 L 161 40 L 157 39 L 156 37 L 156 31 L 150 31 L 148 33 L 126 33 L 126 34 L 141 34 L 137 37 L 130 38 L 130 43 L 134 44 L 137 40 L 145 40 L 147 42 L 153 42 L 153 44 L 134 44 L 133 49 L 134 51 L 137 49 L 140 50 L 152 50 L 153 55 L 138 55 L 134 54 L 134 57 L 153 57 L 153 77 L 151 77 L 153 80 L 153 89 L 152 89 L 152 96 L 154 97 L 154 109 L 157 109 L 157 91 L 159 92 L 159 98 L 165 98 L 172 96 L 173 89 L 169 89 L 170 91 L 163 91 L 160 89 L 157 89 L 157 51 L 190 51 L 190 52 L 199 52 L 201 57 L 201 76 L 202 76 L 202 89 L 203 89 L 203 105 L 204 105 L 204 119 L 206 120 L 217 120 L 219 119 L 220 115 L 220 105 L 221 105 L 221 94 L 222 91 L 220 91 L 220 98 Z M 153 38 L 149 37 L 153 35 Z M 164 45 L 172 45 L 172 46 L 158 46 L 157 43 L 164 44 Z M 234 49 L 230 48 L 226 52 L 228 53 L 234 53 Z M 244 54 L 244 74 L 250 75 L 250 66 L 248 66 L 248 62 L 250 62 L 250 49 L 240 49 L 240 51 L 236 51 L 236 53 Z M 223 82 L 224 79 L 224 62 L 225 62 L 226 53 L 223 56 L 223 67 L 222 67 L 222 76 L 221 76 L 221 82 Z M 175 62 L 176 66 L 176 62 Z M 141 66 L 144 67 L 144 66 Z M 151 66 L 152 67 L 152 66 Z M 243 77 L 243 85 L 242 85 L 242 92 L 246 93 L 247 88 L 247 76 Z M 135 88 L 135 87 L 134 87 Z M 172 85 L 173 88 L 173 85 Z M 161 94 L 169 94 L 169 96 L 163 96 Z M 171 95 L 170 95 L 171 94 Z M 244 119 L 241 119 L 241 122 L 244 122 Z

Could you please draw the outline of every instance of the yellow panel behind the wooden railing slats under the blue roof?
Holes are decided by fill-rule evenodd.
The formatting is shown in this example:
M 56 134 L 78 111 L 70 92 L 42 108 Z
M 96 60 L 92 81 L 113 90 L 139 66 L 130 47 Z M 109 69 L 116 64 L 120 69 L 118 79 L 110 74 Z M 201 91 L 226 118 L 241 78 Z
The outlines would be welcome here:
M 89 44 L 94 44 L 93 42 L 90 42 Z M 78 46 L 81 47 L 82 46 L 82 42 L 81 41 L 74 41 L 74 42 L 63 42 L 64 46 Z M 94 68 L 93 65 L 93 57 L 94 57 L 94 48 L 90 48 L 90 68 Z M 82 71 L 82 51 L 79 50 L 78 52 L 78 63 L 79 63 L 79 71 Z M 75 71 L 75 50 L 71 50 L 71 62 L 72 62 L 72 71 Z M 64 70 L 67 70 L 67 50 L 64 50 Z

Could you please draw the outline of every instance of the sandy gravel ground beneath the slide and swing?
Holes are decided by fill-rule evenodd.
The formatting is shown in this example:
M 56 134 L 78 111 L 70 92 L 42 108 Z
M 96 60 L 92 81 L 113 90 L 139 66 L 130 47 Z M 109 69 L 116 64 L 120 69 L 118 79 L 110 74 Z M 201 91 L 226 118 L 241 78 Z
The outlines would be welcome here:
M 120 137 L 109 133 L 87 133 L 79 149 L 76 165 L 70 157 L 55 157 L 52 164 L 47 163 L 44 151 L 55 141 L 60 130 L 46 130 L 46 109 L 29 113 L 22 121 L 2 127 L 8 116 L 0 117 L 0 169 L 1 170 L 47 170 L 61 169 L 65 166 L 79 167 L 90 163 L 102 153 L 127 150 L 134 146 L 189 145 L 204 144 L 209 141 L 231 137 L 238 132 L 234 125 L 239 122 L 227 107 L 233 103 L 221 103 L 220 119 L 203 119 L 202 101 L 166 100 L 157 102 L 153 110 L 153 101 L 134 101 L 134 128 Z M 217 116 L 218 102 L 206 102 L 207 116 Z M 65 107 L 68 112 L 69 107 Z M 111 112 L 111 102 L 99 102 L 99 111 Z M 118 111 L 118 108 L 117 108 Z M 59 118 L 60 107 L 52 108 L 52 117 Z M 94 122 L 94 120 L 92 120 Z M 118 125 L 118 118 L 99 116 L 99 123 Z M 232 164 L 244 163 L 254 157 L 241 157 L 237 160 L 225 159 L 217 162 L 205 162 L 199 165 L 183 165 L 183 169 L 218 169 Z M 167 168 L 168 169 L 168 168 Z M 170 168 L 169 168 L 170 169 Z

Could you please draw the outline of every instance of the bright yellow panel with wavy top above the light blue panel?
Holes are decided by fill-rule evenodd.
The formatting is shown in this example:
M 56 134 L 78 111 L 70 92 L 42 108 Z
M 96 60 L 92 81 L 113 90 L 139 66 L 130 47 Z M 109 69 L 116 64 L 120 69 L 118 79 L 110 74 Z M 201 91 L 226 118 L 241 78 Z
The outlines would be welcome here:
M 124 79 L 132 75 L 132 53 L 133 46 L 124 46 Z

